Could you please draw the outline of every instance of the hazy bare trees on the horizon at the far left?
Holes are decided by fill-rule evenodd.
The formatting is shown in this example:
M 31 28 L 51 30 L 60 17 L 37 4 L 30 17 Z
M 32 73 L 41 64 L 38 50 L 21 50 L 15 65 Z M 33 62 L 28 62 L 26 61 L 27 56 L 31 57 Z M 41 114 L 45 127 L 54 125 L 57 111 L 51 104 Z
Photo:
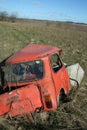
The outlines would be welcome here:
M 8 12 L 6 12 L 6 11 L 0 11 L 0 21 L 15 22 L 16 19 L 17 19 L 16 13 L 8 14 Z

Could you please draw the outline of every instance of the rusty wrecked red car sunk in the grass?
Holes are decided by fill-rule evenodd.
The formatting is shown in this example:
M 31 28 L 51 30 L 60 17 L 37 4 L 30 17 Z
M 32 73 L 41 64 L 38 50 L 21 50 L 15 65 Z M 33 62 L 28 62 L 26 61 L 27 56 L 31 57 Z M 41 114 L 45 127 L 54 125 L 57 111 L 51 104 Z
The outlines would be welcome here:
M 57 109 L 61 91 L 71 89 L 57 47 L 28 45 L 2 63 L 0 115 L 11 117 Z

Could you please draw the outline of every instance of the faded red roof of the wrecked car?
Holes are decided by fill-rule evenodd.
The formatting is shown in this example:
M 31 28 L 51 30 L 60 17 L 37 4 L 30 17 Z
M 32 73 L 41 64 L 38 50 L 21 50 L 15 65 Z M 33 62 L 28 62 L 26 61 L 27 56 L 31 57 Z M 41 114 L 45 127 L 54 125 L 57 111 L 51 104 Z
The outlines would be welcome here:
M 59 52 L 61 49 L 49 45 L 30 44 L 12 55 L 6 62 L 19 63 L 37 60 L 55 51 Z

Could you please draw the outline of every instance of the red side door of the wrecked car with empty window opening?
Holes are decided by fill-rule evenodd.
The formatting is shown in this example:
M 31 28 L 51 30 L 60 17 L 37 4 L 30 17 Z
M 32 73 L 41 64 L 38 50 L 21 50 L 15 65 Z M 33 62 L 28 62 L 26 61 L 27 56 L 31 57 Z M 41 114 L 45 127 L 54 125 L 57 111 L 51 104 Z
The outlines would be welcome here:
M 60 93 L 61 88 L 66 90 L 66 81 L 65 81 L 65 67 L 62 64 L 62 61 L 58 55 L 58 53 L 54 53 L 50 55 L 50 63 L 52 70 L 53 82 L 56 88 L 56 94 Z

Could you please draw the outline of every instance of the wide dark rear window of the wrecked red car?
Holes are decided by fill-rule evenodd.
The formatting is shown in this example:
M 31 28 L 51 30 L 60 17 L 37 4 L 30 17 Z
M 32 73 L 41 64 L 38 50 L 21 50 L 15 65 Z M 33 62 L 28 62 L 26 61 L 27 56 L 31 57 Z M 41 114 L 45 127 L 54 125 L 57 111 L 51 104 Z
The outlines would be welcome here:
M 41 60 L 7 64 L 5 68 L 5 81 L 24 82 L 41 79 L 43 77 L 43 62 Z

